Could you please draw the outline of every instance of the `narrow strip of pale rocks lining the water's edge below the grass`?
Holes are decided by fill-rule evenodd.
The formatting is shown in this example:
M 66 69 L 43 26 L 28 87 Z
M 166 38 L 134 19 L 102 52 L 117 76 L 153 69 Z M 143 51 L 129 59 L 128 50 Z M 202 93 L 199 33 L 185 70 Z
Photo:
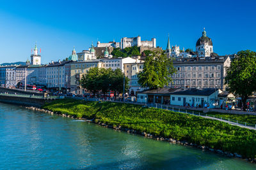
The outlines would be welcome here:
M 37 108 L 37 107 L 34 107 L 34 106 L 30 106 L 30 107 L 26 106 L 25 108 L 27 108 L 29 110 L 33 110 L 33 111 L 41 111 L 41 112 L 48 113 L 48 114 L 51 114 L 51 115 L 58 115 L 60 117 L 74 118 L 74 119 L 77 119 L 77 120 L 84 120 L 85 122 L 93 122 L 93 123 L 98 124 L 102 127 L 108 127 L 108 128 L 114 129 L 115 131 L 124 131 L 124 132 L 131 133 L 131 134 L 132 133 L 133 134 L 139 134 L 141 136 L 144 136 L 145 138 L 156 139 L 157 141 L 166 141 L 166 142 L 169 142 L 169 143 L 172 143 L 172 144 L 190 146 L 190 147 L 194 147 L 194 148 L 199 148 L 201 150 L 209 150 L 210 152 L 215 152 L 215 153 L 218 153 L 218 154 L 221 154 L 221 155 L 225 155 L 227 157 L 236 157 L 236 158 L 239 158 L 239 159 L 247 160 L 248 162 L 256 163 L 256 158 L 255 159 L 244 158 L 244 157 L 242 157 L 242 155 L 239 155 L 238 153 L 223 152 L 222 150 L 216 150 L 216 149 L 210 148 L 208 146 L 196 145 L 194 143 L 188 143 L 188 141 L 179 141 L 179 140 L 173 139 L 173 138 L 163 138 L 161 136 L 154 136 L 153 134 L 147 134 L 146 132 L 138 132 L 138 131 L 135 131 L 134 129 L 122 128 L 120 125 L 112 126 L 112 125 L 104 124 L 102 122 L 97 122 L 94 119 L 93 120 L 87 120 L 86 118 L 76 118 L 76 117 L 71 116 L 71 115 L 63 114 L 63 113 L 60 113 L 60 112 L 53 112 L 51 110 L 45 110 L 45 109 Z

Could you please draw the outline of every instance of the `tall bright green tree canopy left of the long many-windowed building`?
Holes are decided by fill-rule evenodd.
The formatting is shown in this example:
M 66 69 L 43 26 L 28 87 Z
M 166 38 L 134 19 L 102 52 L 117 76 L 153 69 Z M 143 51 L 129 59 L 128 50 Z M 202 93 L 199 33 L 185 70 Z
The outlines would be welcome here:
M 143 71 L 138 73 L 138 83 L 141 87 L 150 89 L 161 88 L 172 81 L 172 74 L 175 71 L 171 59 L 168 59 L 163 52 L 154 51 L 145 59 Z

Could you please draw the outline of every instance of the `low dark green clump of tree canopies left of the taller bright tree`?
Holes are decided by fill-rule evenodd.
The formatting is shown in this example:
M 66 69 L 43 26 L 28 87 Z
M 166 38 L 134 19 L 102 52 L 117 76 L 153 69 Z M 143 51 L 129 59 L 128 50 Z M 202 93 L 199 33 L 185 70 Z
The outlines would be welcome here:
M 125 77 L 125 90 L 128 89 L 129 78 Z M 124 87 L 124 74 L 121 69 L 111 68 L 104 69 L 93 67 L 90 68 L 87 74 L 84 74 L 81 78 L 80 85 L 84 88 L 93 92 L 101 91 L 103 94 L 109 92 L 109 90 L 116 93 L 122 93 Z

